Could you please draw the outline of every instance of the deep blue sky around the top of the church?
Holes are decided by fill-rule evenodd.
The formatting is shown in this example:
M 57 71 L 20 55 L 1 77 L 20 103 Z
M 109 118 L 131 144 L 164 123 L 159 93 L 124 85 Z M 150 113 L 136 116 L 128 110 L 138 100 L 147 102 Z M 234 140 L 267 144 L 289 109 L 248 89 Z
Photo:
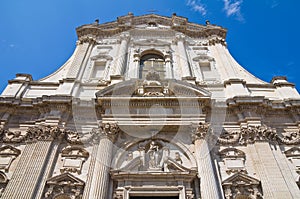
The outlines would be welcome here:
M 299 10 L 299 0 L 1 0 L 0 92 L 16 73 L 38 80 L 57 70 L 75 49 L 76 27 L 128 12 L 223 26 L 244 68 L 267 82 L 287 76 L 299 91 Z

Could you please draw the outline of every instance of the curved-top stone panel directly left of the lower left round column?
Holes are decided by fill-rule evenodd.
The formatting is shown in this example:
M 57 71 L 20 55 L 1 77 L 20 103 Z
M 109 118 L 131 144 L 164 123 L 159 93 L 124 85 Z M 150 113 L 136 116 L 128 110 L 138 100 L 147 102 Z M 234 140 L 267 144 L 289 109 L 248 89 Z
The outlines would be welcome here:
M 67 146 L 61 152 L 63 167 L 61 173 L 71 172 L 81 174 L 83 163 L 88 159 L 89 153 L 78 146 Z

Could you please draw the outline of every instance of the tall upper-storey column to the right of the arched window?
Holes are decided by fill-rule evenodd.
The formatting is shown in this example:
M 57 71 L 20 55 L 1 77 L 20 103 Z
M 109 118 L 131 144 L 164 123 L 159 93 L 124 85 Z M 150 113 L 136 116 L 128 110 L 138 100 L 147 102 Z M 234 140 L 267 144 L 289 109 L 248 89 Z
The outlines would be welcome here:
M 178 46 L 178 54 L 180 59 L 180 67 L 182 72 L 182 77 L 191 77 L 191 70 L 188 63 L 188 57 L 186 54 L 186 49 L 184 46 L 185 37 L 182 34 L 176 35 L 176 41 Z

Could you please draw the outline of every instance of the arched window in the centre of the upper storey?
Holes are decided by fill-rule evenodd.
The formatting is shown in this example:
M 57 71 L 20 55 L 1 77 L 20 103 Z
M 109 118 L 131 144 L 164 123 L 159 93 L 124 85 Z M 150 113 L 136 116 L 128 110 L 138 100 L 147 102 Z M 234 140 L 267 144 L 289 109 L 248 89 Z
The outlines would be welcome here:
M 156 51 L 142 55 L 140 59 L 139 78 L 146 79 L 148 72 L 156 72 L 160 79 L 165 78 L 166 69 L 163 55 Z

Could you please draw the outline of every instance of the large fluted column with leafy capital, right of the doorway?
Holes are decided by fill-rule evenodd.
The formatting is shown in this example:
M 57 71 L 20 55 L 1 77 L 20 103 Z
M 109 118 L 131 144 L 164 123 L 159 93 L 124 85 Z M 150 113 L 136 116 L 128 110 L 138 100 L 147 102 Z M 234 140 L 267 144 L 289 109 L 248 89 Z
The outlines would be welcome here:
M 200 192 L 203 198 L 223 198 L 218 178 L 210 155 L 208 140 L 204 139 L 209 130 L 208 124 L 202 124 L 193 129 L 195 156 L 200 177 Z

